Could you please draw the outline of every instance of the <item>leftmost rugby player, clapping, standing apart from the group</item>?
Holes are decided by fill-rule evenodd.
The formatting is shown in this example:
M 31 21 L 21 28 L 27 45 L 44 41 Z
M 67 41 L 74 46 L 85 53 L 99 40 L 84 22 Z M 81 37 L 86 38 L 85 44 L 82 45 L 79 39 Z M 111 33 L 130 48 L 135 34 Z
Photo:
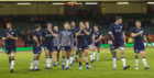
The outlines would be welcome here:
M 7 23 L 7 30 L 3 32 L 2 41 L 6 44 L 6 53 L 9 56 L 10 73 L 14 71 L 14 56 L 16 52 L 15 41 L 18 40 L 18 33 L 12 29 L 11 22 Z

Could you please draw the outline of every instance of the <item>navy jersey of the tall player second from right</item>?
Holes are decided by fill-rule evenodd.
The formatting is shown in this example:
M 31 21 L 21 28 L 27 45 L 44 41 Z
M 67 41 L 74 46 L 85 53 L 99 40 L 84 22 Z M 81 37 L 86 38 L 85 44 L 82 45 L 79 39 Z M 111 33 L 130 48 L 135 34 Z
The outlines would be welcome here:
M 113 36 L 114 36 L 114 41 L 123 41 L 122 38 L 122 32 L 124 31 L 124 27 L 122 24 L 117 25 L 116 23 L 111 24 L 109 32 L 112 32 Z

